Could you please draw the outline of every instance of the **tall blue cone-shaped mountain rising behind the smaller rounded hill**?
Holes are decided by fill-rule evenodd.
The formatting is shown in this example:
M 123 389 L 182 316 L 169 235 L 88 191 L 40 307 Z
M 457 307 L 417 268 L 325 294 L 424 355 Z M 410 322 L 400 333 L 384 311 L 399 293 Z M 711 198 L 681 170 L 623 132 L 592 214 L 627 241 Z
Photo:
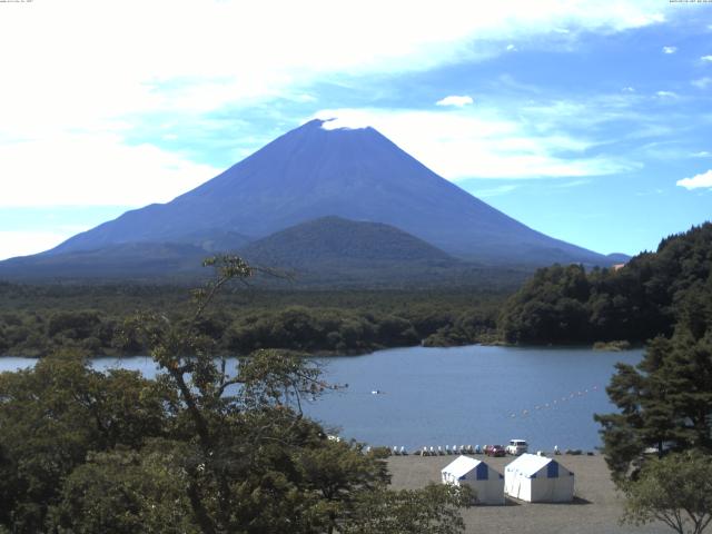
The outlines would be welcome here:
M 172 201 L 128 211 L 48 254 L 127 243 L 195 244 L 195 236 L 209 240 L 211 233 L 255 239 L 339 216 L 388 224 L 448 254 L 488 264 L 611 264 L 507 217 L 373 128 L 323 125 L 307 122 Z

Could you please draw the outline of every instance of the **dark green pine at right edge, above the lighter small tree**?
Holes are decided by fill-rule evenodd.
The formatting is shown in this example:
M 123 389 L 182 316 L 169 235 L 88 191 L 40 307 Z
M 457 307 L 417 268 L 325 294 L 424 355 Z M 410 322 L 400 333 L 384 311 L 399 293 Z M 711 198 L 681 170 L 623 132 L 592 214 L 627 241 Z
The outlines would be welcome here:
M 654 447 L 712 454 L 712 278 L 681 306 L 675 334 L 659 337 L 636 366 L 617 364 L 607 388 L 620 413 L 596 415 L 614 479 L 633 475 Z

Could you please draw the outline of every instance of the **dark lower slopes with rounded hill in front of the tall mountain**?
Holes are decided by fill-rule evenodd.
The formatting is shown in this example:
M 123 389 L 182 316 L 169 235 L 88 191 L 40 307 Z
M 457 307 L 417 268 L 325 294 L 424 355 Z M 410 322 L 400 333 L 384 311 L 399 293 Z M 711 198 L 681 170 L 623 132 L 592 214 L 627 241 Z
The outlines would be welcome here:
M 231 240 L 233 236 L 227 236 L 227 241 Z M 251 265 L 267 267 L 271 274 L 260 269 L 251 284 L 275 288 L 514 288 L 531 273 L 462 261 L 393 226 L 340 217 L 303 222 L 239 250 L 216 251 L 238 253 Z M 0 278 L 195 283 L 209 274 L 201 268 L 209 255 L 205 247 L 185 244 L 107 245 L 2 261 Z

